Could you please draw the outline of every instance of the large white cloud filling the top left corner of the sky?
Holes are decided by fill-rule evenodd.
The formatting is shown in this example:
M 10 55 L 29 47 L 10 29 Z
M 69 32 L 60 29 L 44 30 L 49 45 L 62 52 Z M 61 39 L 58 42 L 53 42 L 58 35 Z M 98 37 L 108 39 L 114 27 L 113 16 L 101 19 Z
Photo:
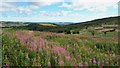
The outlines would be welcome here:
M 12 11 L 16 12 L 17 14 L 27 14 L 30 15 L 32 14 L 32 10 L 34 9 L 40 9 L 41 7 L 44 6 L 49 6 L 52 4 L 57 4 L 61 2 L 62 0 L 2 0 L 0 2 L 0 11 Z M 29 3 L 28 6 L 16 6 L 12 3 L 17 3 L 17 2 L 27 2 Z

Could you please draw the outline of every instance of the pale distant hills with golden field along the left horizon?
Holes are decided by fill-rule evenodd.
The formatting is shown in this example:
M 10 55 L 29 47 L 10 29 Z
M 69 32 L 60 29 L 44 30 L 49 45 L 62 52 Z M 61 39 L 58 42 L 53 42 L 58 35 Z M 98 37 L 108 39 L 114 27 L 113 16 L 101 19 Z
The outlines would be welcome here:
M 26 26 L 30 23 L 39 23 L 43 26 L 56 26 L 56 25 L 67 25 L 71 24 L 71 22 L 12 22 L 12 21 L 1 21 L 0 24 L 2 26 L 0 27 L 16 27 L 16 26 Z

